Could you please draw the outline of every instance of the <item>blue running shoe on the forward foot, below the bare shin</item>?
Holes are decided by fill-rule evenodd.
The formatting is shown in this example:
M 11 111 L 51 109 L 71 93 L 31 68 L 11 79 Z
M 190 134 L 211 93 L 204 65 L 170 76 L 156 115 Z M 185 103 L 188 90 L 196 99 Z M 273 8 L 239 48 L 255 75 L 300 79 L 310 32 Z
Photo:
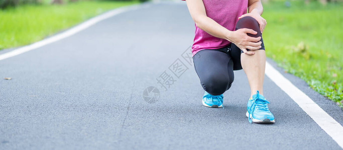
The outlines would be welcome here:
M 268 109 L 268 103 L 270 102 L 260 95 L 259 91 L 249 99 L 246 115 L 250 123 L 275 123 L 274 115 Z

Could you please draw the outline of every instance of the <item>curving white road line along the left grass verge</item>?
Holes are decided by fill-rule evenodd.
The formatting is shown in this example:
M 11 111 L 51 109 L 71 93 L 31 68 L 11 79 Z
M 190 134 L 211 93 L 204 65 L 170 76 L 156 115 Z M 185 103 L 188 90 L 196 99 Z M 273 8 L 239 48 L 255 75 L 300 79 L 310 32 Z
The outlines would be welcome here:
M 120 7 L 120 8 L 116 8 L 116 9 L 107 11 L 107 12 L 105 12 L 103 14 L 100 14 L 100 15 L 97 15 L 97 16 L 95 16 L 93 18 L 90 18 L 89 20 L 84 21 L 83 23 L 78 24 L 78 25 L 76 25 L 76 26 L 74 26 L 74 27 L 72 27 L 72 28 L 62 32 L 62 33 L 56 34 L 54 36 L 51 36 L 51 37 L 48 37 L 46 39 L 40 40 L 38 42 L 32 43 L 30 45 L 26 45 L 26 46 L 20 47 L 18 49 L 15 49 L 15 50 L 12 50 L 12 51 L 0 54 L 0 60 L 4 60 L 6 58 L 10 58 L 10 57 L 19 55 L 19 54 L 22 54 L 24 52 L 27 52 L 27 51 L 30 51 L 30 50 L 42 47 L 42 46 L 47 45 L 49 43 L 58 41 L 60 39 L 66 38 L 68 36 L 71 36 L 71 35 L 79 32 L 79 31 L 81 31 L 81 30 L 84 30 L 84 29 L 88 28 L 89 26 L 94 25 L 95 23 L 97 23 L 97 22 L 99 22 L 101 20 L 104 20 L 106 18 L 112 17 L 114 15 L 117 15 L 117 14 L 129 11 L 129 10 L 135 10 L 135 9 L 138 9 L 139 7 L 147 7 L 147 6 L 148 6 L 147 3 L 145 3 L 145 4 L 135 4 L 135 5 Z

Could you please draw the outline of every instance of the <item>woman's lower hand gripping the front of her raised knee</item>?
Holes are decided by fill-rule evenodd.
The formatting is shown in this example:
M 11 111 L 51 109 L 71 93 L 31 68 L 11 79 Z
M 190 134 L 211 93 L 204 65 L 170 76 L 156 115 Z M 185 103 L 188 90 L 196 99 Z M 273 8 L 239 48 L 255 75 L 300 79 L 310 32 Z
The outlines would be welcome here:
M 255 52 L 253 50 L 258 50 L 261 48 L 261 36 L 252 37 L 250 34 L 257 34 L 257 31 L 249 28 L 240 28 L 235 31 L 231 31 L 228 35 L 228 40 L 236 44 L 244 53 L 248 55 L 253 55 Z M 250 49 L 251 51 L 248 51 Z

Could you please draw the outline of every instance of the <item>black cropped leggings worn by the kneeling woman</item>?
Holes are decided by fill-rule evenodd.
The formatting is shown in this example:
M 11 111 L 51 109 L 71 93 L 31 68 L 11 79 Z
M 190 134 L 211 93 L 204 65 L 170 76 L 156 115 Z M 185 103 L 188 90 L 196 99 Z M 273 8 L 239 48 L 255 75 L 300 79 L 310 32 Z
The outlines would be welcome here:
M 253 37 L 262 37 L 258 22 L 251 16 L 241 18 L 236 24 L 236 30 L 251 28 L 257 34 Z M 260 49 L 265 49 L 263 39 Z M 247 49 L 249 50 L 249 49 Z M 220 95 L 231 87 L 234 81 L 234 70 L 242 69 L 241 53 L 243 51 L 234 43 L 219 49 L 204 49 L 193 56 L 195 71 L 205 91 L 211 95 Z

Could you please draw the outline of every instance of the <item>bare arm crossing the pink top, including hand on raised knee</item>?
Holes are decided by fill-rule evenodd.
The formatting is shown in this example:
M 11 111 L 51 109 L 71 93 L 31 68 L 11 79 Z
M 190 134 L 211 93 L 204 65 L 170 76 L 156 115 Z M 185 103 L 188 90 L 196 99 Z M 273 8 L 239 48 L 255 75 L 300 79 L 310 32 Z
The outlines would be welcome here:
M 254 54 L 254 52 L 247 51 L 247 49 L 257 50 L 261 48 L 261 37 L 251 37 L 247 34 L 257 34 L 253 29 L 241 28 L 236 31 L 228 30 L 206 15 L 202 0 L 186 0 L 186 3 L 196 26 L 205 32 L 235 43 L 243 52 L 249 55 Z

